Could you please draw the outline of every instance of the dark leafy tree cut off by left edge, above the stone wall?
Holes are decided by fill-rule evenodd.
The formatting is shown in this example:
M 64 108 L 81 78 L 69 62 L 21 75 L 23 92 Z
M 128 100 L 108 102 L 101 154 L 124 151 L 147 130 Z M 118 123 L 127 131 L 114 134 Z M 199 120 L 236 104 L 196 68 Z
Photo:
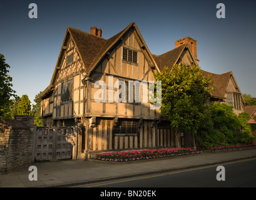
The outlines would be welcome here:
M 11 97 L 16 97 L 16 91 L 11 88 L 13 78 L 8 74 L 10 66 L 5 61 L 4 55 L 0 54 L 0 118 L 9 118 L 8 113 L 13 103 Z

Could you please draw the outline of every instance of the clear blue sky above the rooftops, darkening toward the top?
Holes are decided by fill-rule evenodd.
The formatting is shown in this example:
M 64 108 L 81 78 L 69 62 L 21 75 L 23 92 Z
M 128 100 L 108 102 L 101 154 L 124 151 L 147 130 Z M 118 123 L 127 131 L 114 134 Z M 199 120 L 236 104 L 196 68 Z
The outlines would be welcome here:
M 217 4 L 225 4 L 218 19 Z M 30 3 L 38 18 L 30 19 Z M 200 67 L 210 73 L 232 71 L 242 93 L 256 97 L 256 1 L 66 1 L 0 0 L 0 53 L 11 66 L 18 96 L 34 96 L 50 83 L 66 27 L 90 32 L 101 27 L 106 39 L 136 22 L 153 54 L 175 48 L 175 41 L 197 40 Z

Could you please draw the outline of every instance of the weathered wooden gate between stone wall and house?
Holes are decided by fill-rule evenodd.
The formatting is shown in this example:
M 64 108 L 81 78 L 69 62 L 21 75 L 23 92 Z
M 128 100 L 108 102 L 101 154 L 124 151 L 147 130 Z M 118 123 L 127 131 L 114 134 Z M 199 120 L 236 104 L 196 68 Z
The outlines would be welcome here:
M 34 130 L 32 161 L 74 159 L 76 134 L 73 128 L 37 127 Z

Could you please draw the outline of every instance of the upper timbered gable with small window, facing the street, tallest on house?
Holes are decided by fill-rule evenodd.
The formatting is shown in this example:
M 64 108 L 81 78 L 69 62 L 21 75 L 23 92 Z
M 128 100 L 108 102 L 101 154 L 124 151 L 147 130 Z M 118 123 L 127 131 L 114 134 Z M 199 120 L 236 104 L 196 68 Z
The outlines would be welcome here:
M 135 58 L 135 61 L 129 61 L 128 56 Z M 156 68 L 153 69 L 152 62 L 150 62 L 150 56 L 141 48 L 141 41 L 136 30 L 130 29 L 123 34 L 120 42 L 108 51 L 108 54 L 91 72 L 91 76 L 95 79 L 95 74 L 105 73 L 120 78 L 149 81 L 153 80 L 155 71 Z

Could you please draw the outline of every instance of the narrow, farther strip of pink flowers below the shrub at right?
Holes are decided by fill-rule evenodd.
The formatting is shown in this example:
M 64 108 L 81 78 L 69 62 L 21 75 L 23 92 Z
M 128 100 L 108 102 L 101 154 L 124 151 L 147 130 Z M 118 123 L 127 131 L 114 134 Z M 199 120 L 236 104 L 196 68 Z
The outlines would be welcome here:
M 202 149 L 201 151 L 206 152 L 221 152 L 221 151 L 235 151 L 235 150 L 242 150 L 242 149 L 253 149 L 256 148 L 256 144 L 243 144 L 243 145 L 232 145 L 232 146 L 217 146 L 212 148 Z

